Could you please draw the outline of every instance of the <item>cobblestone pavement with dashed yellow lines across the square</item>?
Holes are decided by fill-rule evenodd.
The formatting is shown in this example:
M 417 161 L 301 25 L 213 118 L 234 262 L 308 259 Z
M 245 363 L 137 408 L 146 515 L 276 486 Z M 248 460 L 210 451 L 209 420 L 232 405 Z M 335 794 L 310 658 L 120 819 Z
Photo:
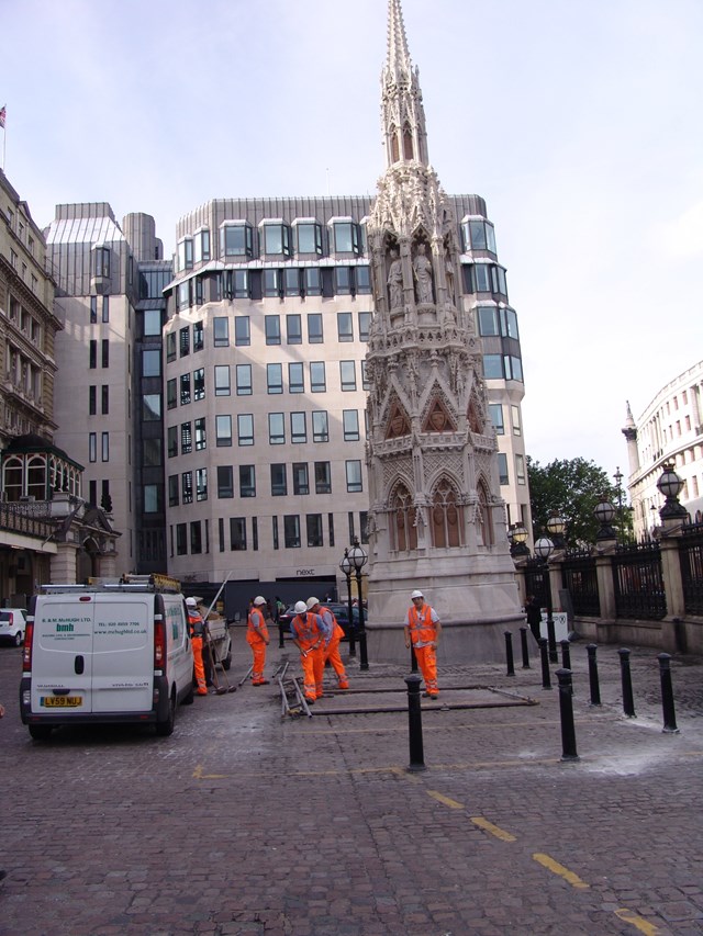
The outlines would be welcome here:
M 237 683 L 239 634 L 235 651 Z M 271 647 L 268 669 L 288 653 Z M 36 744 L 3 647 L 0 933 L 701 934 L 703 659 L 672 659 L 679 734 L 661 731 L 655 651 L 633 650 L 634 719 L 616 647 L 599 649 L 600 708 L 582 643 L 571 662 L 577 763 L 560 760 L 556 680 L 518 659 L 512 677 L 444 668 L 440 701 L 423 700 L 427 769 L 409 773 L 402 710 L 332 711 L 402 709 L 402 667 L 353 663 L 365 691 L 310 719 L 245 684 L 181 709 L 169 738 L 76 728 Z

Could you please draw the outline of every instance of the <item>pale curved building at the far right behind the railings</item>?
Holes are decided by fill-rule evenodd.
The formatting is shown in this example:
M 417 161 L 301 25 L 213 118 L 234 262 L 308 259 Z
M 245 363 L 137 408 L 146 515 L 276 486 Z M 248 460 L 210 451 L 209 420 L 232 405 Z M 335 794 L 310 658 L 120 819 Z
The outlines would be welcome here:
M 636 539 L 660 526 L 665 498 L 657 487 L 665 465 L 683 482 L 681 505 L 692 522 L 703 520 L 703 361 L 665 384 L 635 420 L 629 404 L 623 435 L 627 440 Z

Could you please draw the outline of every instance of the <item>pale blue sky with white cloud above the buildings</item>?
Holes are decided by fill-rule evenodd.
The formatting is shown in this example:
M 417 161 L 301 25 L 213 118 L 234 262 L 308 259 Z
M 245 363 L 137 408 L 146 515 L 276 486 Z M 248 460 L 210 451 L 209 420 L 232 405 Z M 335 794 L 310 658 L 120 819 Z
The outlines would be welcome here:
M 387 0 L 0 0 L 4 168 L 176 222 L 214 198 L 373 194 Z M 486 199 L 517 312 L 527 453 L 628 473 L 703 359 L 703 3 L 403 0 L 429 158 Z

